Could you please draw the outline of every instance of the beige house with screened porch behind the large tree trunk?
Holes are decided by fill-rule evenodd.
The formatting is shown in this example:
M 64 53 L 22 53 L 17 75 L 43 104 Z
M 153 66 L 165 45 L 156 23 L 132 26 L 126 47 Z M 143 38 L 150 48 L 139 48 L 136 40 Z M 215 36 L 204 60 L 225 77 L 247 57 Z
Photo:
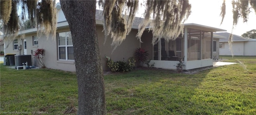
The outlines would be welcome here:
M 68 26 L 68 22 L 60 9 L 60 4 L 56 4 L 58 9 L 58 23 L 57 23 L 57 37 L 52 39 L 52 36 L 46 40 L 46 36 L 36 36 L 37 29 L 32 28 L 23 30 L 19 34 L 25 34 L 25 38 L 20 40 L 16 39 L 12 41 L 12 44 L 6 48 L 6 53 L 16 55 L 30 55 L 38 48 L 44 48 L 45 50 L 45 65 L 52 69 L 61 69 L 64 71 L 75 71 L 74 63 L 74 50 L 72 44 L 72 36 Z M 221 36 L 213 35 L 213 32 L 223 32 L 226 30 L 212 28 L 209 26 L 203 26 L 199 24 L 185 24 L 184 36 L 180 36 L 175 41 L 164 41 L 161 39 L 161 44 L 152 45 L 152 34 L 147 30 L 142 35 L 142 42 L 136 38 L 138 33 L 138 25 L 143 20 L 136 17 L 132 24 L 132 31 L 127 38 L 122 42 L 120 46 L 114 50 L 110 45 L 112 39 L 108 37 L 104 44 L 104 32 L 103 30 L 103 17 L 102 11 L 96 10 L 96 31 L 98 34 L 98 43 L 100 48 L 100 57 L 102 61 L 103 70 L 108 70 L 106 65 L 105 56 L 110 57 L 113 61 L 127 61 L 129 57 L 134 56 L 136 48 L 144 48 L 149 51 L 150 56 L 148 59 L 152 59 L 150 63 L 154 63 L 154 67 L 160 67 L 165 69 L 176 69 L 174 65 L 178 63 L 177 59 L 162 60 L 161 49 L 166 51 L 172 50 L 178 57 L 184 58 L 184 69 L 194 69 L 198 67 L 212 66 L 212 55 L 214 52 L 218 52 L 219 38 Z M 213 44 L 215 44 L 213 46 Z M 18 47 L 20 46 L 20 50 Z M 153 55 L 154 54 L 154 55 Z M 169 54 L 167 52 L 167 54 Z M 218 53 L 217 53 L 218 54 Z M 86 58 L 86 57 L 84 57 Z M 36 61 L 33 60 L 34 65 Z

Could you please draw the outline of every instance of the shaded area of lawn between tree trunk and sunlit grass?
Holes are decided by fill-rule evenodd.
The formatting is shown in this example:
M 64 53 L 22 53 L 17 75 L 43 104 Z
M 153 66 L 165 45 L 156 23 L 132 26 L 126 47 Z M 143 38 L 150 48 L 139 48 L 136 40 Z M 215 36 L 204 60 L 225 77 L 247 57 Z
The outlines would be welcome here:
M 111 114 L 188 114 L 191 98 L 209 70 L 196 74 L 166 69 L 138 69 L 105 76 L 107 110 Z

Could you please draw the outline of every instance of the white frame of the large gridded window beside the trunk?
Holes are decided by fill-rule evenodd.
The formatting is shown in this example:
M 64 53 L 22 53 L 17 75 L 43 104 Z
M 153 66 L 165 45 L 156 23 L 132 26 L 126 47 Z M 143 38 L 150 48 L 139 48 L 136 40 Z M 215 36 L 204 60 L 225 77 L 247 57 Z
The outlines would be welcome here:
M 70 31 L 68 31 L 68 32 L 70 32 Z M 64 60 L 64 61 L 74 61 L 74 59 L 68 59 L 68 47 L 73 47 L 73 44 L 72 45 L 67 45 L 67 42 L 68 42 L 68 40 L 67 40 L 67 33 L 68 32 L 65 32 L 65 45 L 59 45 L 60 43 L 59 43 L 59 33 L 64 33 L 64 32 L 59 32 L 59 33 L 57 33 L 57 35 L 58 35 L 58 60 Z M 60 59 L 60 47 L 65 47 L 65 54 L 66 54 L 66 59 Z

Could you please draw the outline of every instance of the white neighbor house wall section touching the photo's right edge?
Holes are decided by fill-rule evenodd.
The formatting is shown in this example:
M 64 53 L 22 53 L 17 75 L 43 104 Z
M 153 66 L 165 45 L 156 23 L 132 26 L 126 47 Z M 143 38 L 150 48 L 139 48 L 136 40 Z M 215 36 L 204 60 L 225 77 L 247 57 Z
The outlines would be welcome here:
M 244 42 L 244 56 L 256 56 L 256 41 Z

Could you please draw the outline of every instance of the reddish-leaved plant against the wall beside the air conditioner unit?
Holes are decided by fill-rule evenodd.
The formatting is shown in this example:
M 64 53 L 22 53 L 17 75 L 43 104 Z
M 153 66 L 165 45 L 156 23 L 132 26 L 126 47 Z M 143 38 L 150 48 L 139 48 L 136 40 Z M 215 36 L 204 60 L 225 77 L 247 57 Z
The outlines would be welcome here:
M 36 58 L 37 63 L 44 68 L 44 49 L 36 49 L 35 54 L 33 55 Z

